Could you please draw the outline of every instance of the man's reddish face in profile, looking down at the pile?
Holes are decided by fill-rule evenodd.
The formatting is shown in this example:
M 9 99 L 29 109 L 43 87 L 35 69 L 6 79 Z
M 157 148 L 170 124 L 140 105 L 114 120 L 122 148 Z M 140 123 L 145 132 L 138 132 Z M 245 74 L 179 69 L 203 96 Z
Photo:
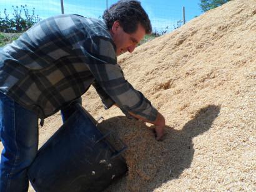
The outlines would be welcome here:
M 139 44 L 144 36 L 145 29 L 141 26 L 141 24 L 139 24 L 137 31 L 132 34 L 124 32 L 118 21 L 114 22 L 111 28 L 111 37 L 117 47 L 117 56 L 122 52 L 133 52 L 137 44 Z

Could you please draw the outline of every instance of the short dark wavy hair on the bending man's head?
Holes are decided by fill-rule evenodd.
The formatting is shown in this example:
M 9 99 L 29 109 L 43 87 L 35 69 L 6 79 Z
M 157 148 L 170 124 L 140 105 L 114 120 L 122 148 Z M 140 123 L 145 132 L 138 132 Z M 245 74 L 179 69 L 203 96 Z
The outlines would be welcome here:
M 111 29 L 115 21 L 119 21 L 124 32 L 127 32 L 128 34 L 137 31 L 139 23 L 144 27 L 146 34 L 150 34 L 152 32 L 149 16 L 142 8 L 139 1 L 118 1 L 115 4 L 112 4 L 109 9 L 104 11 L 102 18 L 109 29 Z

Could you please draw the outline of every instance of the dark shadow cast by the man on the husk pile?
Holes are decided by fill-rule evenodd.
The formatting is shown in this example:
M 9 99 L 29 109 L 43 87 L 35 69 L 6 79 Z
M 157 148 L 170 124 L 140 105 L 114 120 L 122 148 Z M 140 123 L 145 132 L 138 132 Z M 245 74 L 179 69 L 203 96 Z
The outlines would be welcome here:
M 201 108 L 182 130 L 166 127 L 161 142 L 152 139 L 154 127 L 147 127 L 144 122 L 132 122 L 121 116 L 103 120 L 98 125 L 101 132 L 112 130 L 116 133 L 108 138 L 112 145 L 118 149 L 122 147 L 117 137 L 126 143 L 127 150 L 122 155 L 129 167 L 127 175 L 106 191 L 152 191 L 166 181 L 179 178 L 193 160 L 192 139 L 207 132 L 219 112 L 217 105 Z

